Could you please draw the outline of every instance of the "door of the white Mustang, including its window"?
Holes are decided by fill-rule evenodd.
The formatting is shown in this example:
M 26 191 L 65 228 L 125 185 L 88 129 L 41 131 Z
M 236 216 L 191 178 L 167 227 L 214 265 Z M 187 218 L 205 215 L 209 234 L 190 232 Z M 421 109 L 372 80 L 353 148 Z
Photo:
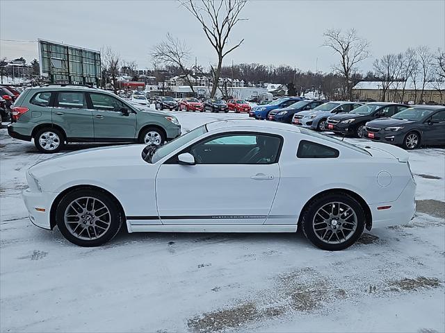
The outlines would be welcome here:
M 280 180 L 282 137 L 264 133 L 213 135 L 181 151 L 156 177 L 158 214 L 163 224 L 263 224 Z

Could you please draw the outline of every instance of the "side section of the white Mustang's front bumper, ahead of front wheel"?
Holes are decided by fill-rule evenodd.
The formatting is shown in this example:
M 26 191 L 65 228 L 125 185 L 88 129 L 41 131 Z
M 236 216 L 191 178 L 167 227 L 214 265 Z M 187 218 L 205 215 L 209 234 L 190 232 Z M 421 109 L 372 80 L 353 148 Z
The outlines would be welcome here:
M 49 212 L 51 210 L 51 203 L 53 202 L 54 194 L 51 192 L 38 192 L 25 189 L 22 192 L 26 210 L 28 210 L 29 219 L 33 225 L 43 229 L 51 230 L 51 223 L 49 220 Z M 36 209 L 39 210 L 36 210 Z M 42 212 L 44 210 L 44 212 Z

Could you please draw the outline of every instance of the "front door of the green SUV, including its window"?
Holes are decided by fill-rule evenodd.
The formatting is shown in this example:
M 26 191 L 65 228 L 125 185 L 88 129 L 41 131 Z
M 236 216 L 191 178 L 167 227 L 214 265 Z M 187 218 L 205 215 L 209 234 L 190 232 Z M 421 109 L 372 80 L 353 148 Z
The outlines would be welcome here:
M 95 141 L 131 141 L 136 134 L 136 113 L 108 94 L 89 93 Z M 122 112 L 125 108 L 128 112 Z

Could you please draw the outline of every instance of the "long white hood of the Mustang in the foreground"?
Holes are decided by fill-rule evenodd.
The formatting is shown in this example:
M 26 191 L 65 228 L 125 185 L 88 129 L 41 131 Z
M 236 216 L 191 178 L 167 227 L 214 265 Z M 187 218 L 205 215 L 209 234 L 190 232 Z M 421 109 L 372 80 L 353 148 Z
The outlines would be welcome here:
M 74 151 L 63 155 L 51 157 L 48 160 L 34 164 L 29 172 L 40 179 L 51 176 L 53 173 L 69 173 L 74 169 L 106 168 L 108 166 L 122 164 L 147 164 L 142 159 L 143 148 L 146 144 L 133 144 L 122 146 L 108 146 L 101 148 L 90 148 L 82 151 Z M 49 177 L 51 182 L 51 177 Z

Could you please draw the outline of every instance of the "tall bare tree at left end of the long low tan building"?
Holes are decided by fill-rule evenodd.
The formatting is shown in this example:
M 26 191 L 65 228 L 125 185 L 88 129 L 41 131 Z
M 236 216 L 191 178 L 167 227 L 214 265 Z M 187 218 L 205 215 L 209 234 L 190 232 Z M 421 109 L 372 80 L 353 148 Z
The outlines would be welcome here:
M 369 42 L 357 36 L 355 29 L 342 33 L 340 29 L 330 29 L 324 34 L 323 46 L 328 46 L 340 56 L 340 63 L 334 69 L 344 77 L 346 97 L 352 99 L 351 78 L 359 62 L 370 56 Z

